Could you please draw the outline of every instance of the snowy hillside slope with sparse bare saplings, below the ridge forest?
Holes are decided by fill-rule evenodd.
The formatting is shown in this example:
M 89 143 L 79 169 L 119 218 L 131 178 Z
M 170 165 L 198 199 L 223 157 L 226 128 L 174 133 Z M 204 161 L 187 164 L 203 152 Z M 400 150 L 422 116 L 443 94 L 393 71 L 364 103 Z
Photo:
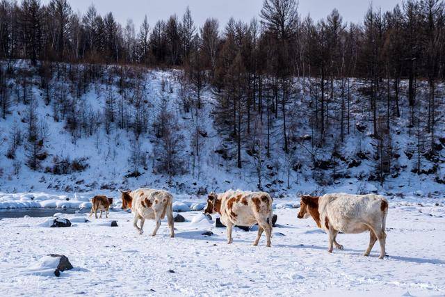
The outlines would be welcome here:
M 435 153 L 421 153 L 421 175 L 415 172 L 415 128 L 407 120 L 391 123 L 395 161 L 380 186 L 374 173 L 378 160 L 374 159 L 371 113 L 359 90 L 353 92 L 350 134 L 345 141 L 339 142 L 339 127 L 332 125 L 325 145 L 317 147 L 312 146 L 314 129 L 307 114 L 309 93 L 302 87 L 304 83 L 296 81 L 299 91 L 288 106 L 289 139 L 294 140 L 291 152 L 284 154 L 282 150 L 281 121 L 277 120 L 271 127 L 270 158 L 260 156 L 258 164 L 249 138 L 242 150 L 240 169 L 236 167 L 234 139 L 216 123 L 216 93 L 205 88 L 202 109 L 197 115 L 194 110 L 187 112 L 179 70 L 54 64 L 54 75 L 45 87 L 43 66 L 12 61 L 2 67 L 12 72 L 8 81 L 10 106 L 6 117 L 0 118 L 2 192 L 67 192 L 73 198 L 74 193 L 113 193 L 118 188 L 140 186 L 168 188 L 178 195 L 204 195 L 229 188 L 255 190 L 260 165 L 262 188 L 275 197 L 327 191 L 445 193 L 443 122 L 437 123 Z M 401 110 L 407 111 L 405 101 Z M 337 112 L 332 103 L 332 117 Z M 110 115 L 113 120 L 109 120 Z M 31 148 L 27 139 L 30 117 L 41 138 L 41 143 Z M 159 137 L 163 117 L 171 131 L 167 140 Z M 140 134 L 138 141 L 136 134 Z M 195 153 L 196 134 L 199 155 Z M 170 149 L 171 166 L 180 167 L 171 180 L 165 170 L 165 155 Z M 29 161 L 35 150 L 38 166 L 33 170 Z

